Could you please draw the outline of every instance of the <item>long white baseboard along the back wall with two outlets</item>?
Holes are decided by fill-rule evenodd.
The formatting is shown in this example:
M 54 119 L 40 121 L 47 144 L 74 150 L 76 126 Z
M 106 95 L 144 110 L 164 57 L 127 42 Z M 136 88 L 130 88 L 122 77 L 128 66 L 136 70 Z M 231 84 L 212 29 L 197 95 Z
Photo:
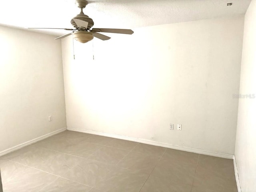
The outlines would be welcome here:
M 150 144 L 150 145 L 155 145 L 155 146 L 160 146 L 160 147 L 166 147 L 166 148 L 182 150 L 182 151 L 187 151 L 187 152 L 193 152 L 193 153 L 209 155 L 209 156 L 214 156 L 214 157 L 221 157 L 221 158 L 226 158 L 226 159 L 233 159 L 233 156 L 234 156 L 233 154 L 226 154 L 226 153 L 213 152 L 213 151 L 207 151 L 207 150 L 196 149 L 196 148 L 176 146 L 176 145 L 156 142 L 156 141 L 152 141 L 152 140 L 146 140 L 146 139 L 141 139 L 141 138 L 132 138 L 132 137 L 115 135 L 115 134 L 110 134 L 110 133 L 105 133 L 105 132 L 82 130 L 82 129 L 76 129 L 76 128 L 71 128 L 71 127 L 68 127 L 67 129 L 70 131 L 77 131 L 77 132 L 82 132 L 82 133 L 112 137 L 112 138 L 116 138 L 116 139 L 123 139 L 123 140 L 128 140 L 128 141 L 134 141 L 134 142 L 139 142 L 139 143 L 144 143 L 144 144 Z

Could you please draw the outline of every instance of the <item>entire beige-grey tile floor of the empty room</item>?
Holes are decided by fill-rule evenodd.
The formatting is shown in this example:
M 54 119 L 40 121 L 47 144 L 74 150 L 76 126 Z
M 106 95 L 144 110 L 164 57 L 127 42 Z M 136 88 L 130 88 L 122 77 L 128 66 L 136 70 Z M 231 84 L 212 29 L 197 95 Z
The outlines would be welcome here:
M 0 168 L 4 192 L 237 192 L 232 160 L 72 131 Z

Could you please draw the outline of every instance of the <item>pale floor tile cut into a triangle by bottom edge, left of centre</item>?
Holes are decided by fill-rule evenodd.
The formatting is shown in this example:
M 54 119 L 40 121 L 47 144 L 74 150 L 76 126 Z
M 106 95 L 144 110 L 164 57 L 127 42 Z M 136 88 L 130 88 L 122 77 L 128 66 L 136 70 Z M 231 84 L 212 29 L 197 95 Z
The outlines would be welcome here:
M 39 192 L 89 192 L 91 187 L 67 180 L 58 178 L 48 186 L 42 188 Z

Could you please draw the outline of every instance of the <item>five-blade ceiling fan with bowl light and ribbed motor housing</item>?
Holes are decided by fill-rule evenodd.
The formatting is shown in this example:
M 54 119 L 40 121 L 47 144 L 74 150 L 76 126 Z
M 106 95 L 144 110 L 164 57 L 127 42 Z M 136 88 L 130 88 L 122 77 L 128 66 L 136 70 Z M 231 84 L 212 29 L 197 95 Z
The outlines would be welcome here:
M 83 8 L 86 7 L 88 2 L 86 0 L 76 0 L 75 1 L 76 6 L 80 8 L 81 12 L 80 14 L 76 15 L 70 23 L 75 29 L 69 29 L 69 28 L 29 28 L 29 29 L 64 29 L 64 30 L 70 30 L 71 33 L 62 35 L 55 39 L 61 39 L 66 36 L 69 36 L 73 34 L 73 37 L 75 40 L 81 43 L 86 43 L 90 40 L 92 40 L 94 37 L 99 38 L 101 40 L 109 40 L 110 37 L 100 34 L 98 32 L 106 32 L 106 33 L 119 33 L 119 34 L 133 34 L 134 32 L 130 29 L 109 29 L 109 28 L 92 28 L 94 25 L 94 22 L 91 18 L 89 18 L 87 15 L 84 14 Z M 92 29 L 91 29 L 92 28 Z

